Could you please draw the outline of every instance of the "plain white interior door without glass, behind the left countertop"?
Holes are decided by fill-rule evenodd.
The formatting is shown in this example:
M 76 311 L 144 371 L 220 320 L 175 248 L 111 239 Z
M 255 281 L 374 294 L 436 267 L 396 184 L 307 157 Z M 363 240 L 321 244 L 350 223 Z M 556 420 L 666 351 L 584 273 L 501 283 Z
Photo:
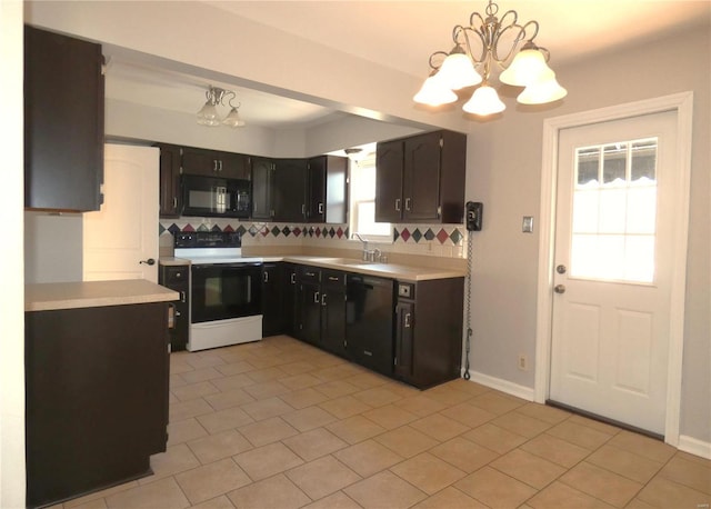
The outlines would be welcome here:
M 159 157 L 153 147 L 104 147 L 103 204 L 83 214 L 84 281 L 158 281 Z

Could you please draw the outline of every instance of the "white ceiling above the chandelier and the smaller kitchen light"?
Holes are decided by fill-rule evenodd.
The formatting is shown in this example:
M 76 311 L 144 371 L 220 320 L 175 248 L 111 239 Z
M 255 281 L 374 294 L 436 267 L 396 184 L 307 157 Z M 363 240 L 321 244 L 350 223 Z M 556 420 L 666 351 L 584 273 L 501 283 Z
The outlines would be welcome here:
M 467 24 L 475 1 L 228 1 L 212 7 L 346 53 L 425 77 L 433 51 L 451 49 L 454 24 Z M 513 9 L 519 22 L 537 20 L 537 43 L 551 52 L 551 67 L 578 57 L 643 42 L 664 32 L 709 23 L 711 1 L 670 0 L 500 0 L 499 17 Z M 269 37 L 266 33 L 266 37 Z M 197 112 L 204 102 L 203 79 L 113 59 L 107 72 L 107 97 L 169 110 Z M 320 106 L 257 90 L 222 86 L 238 93 L 240 114 L 262 127 L 309 126 L 331 120 Z M 226 111 L 227 112 L 227 111 Z

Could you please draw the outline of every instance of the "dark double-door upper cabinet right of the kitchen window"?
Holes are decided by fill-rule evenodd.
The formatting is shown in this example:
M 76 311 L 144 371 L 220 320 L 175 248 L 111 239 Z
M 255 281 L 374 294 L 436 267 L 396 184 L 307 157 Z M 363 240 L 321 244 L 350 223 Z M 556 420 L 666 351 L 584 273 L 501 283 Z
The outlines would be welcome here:
M 467 136 L 434 131 L 378 143 L 375 221 L 460 223 Z

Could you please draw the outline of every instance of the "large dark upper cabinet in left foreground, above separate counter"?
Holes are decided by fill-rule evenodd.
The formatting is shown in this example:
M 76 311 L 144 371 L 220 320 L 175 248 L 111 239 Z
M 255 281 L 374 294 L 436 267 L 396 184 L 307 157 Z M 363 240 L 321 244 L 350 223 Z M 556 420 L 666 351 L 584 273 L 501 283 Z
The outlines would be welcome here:
M 24 27 L 24 207 L 99 210 L 103 183 L 101 46 Z

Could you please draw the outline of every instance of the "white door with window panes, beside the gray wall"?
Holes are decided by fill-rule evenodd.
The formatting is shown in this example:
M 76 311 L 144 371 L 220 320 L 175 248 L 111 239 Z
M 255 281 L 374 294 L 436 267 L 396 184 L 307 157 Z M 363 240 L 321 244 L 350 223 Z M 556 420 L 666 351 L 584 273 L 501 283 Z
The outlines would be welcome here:
M 664 433 L 677 111 L 563 129 L 550 399 Z

